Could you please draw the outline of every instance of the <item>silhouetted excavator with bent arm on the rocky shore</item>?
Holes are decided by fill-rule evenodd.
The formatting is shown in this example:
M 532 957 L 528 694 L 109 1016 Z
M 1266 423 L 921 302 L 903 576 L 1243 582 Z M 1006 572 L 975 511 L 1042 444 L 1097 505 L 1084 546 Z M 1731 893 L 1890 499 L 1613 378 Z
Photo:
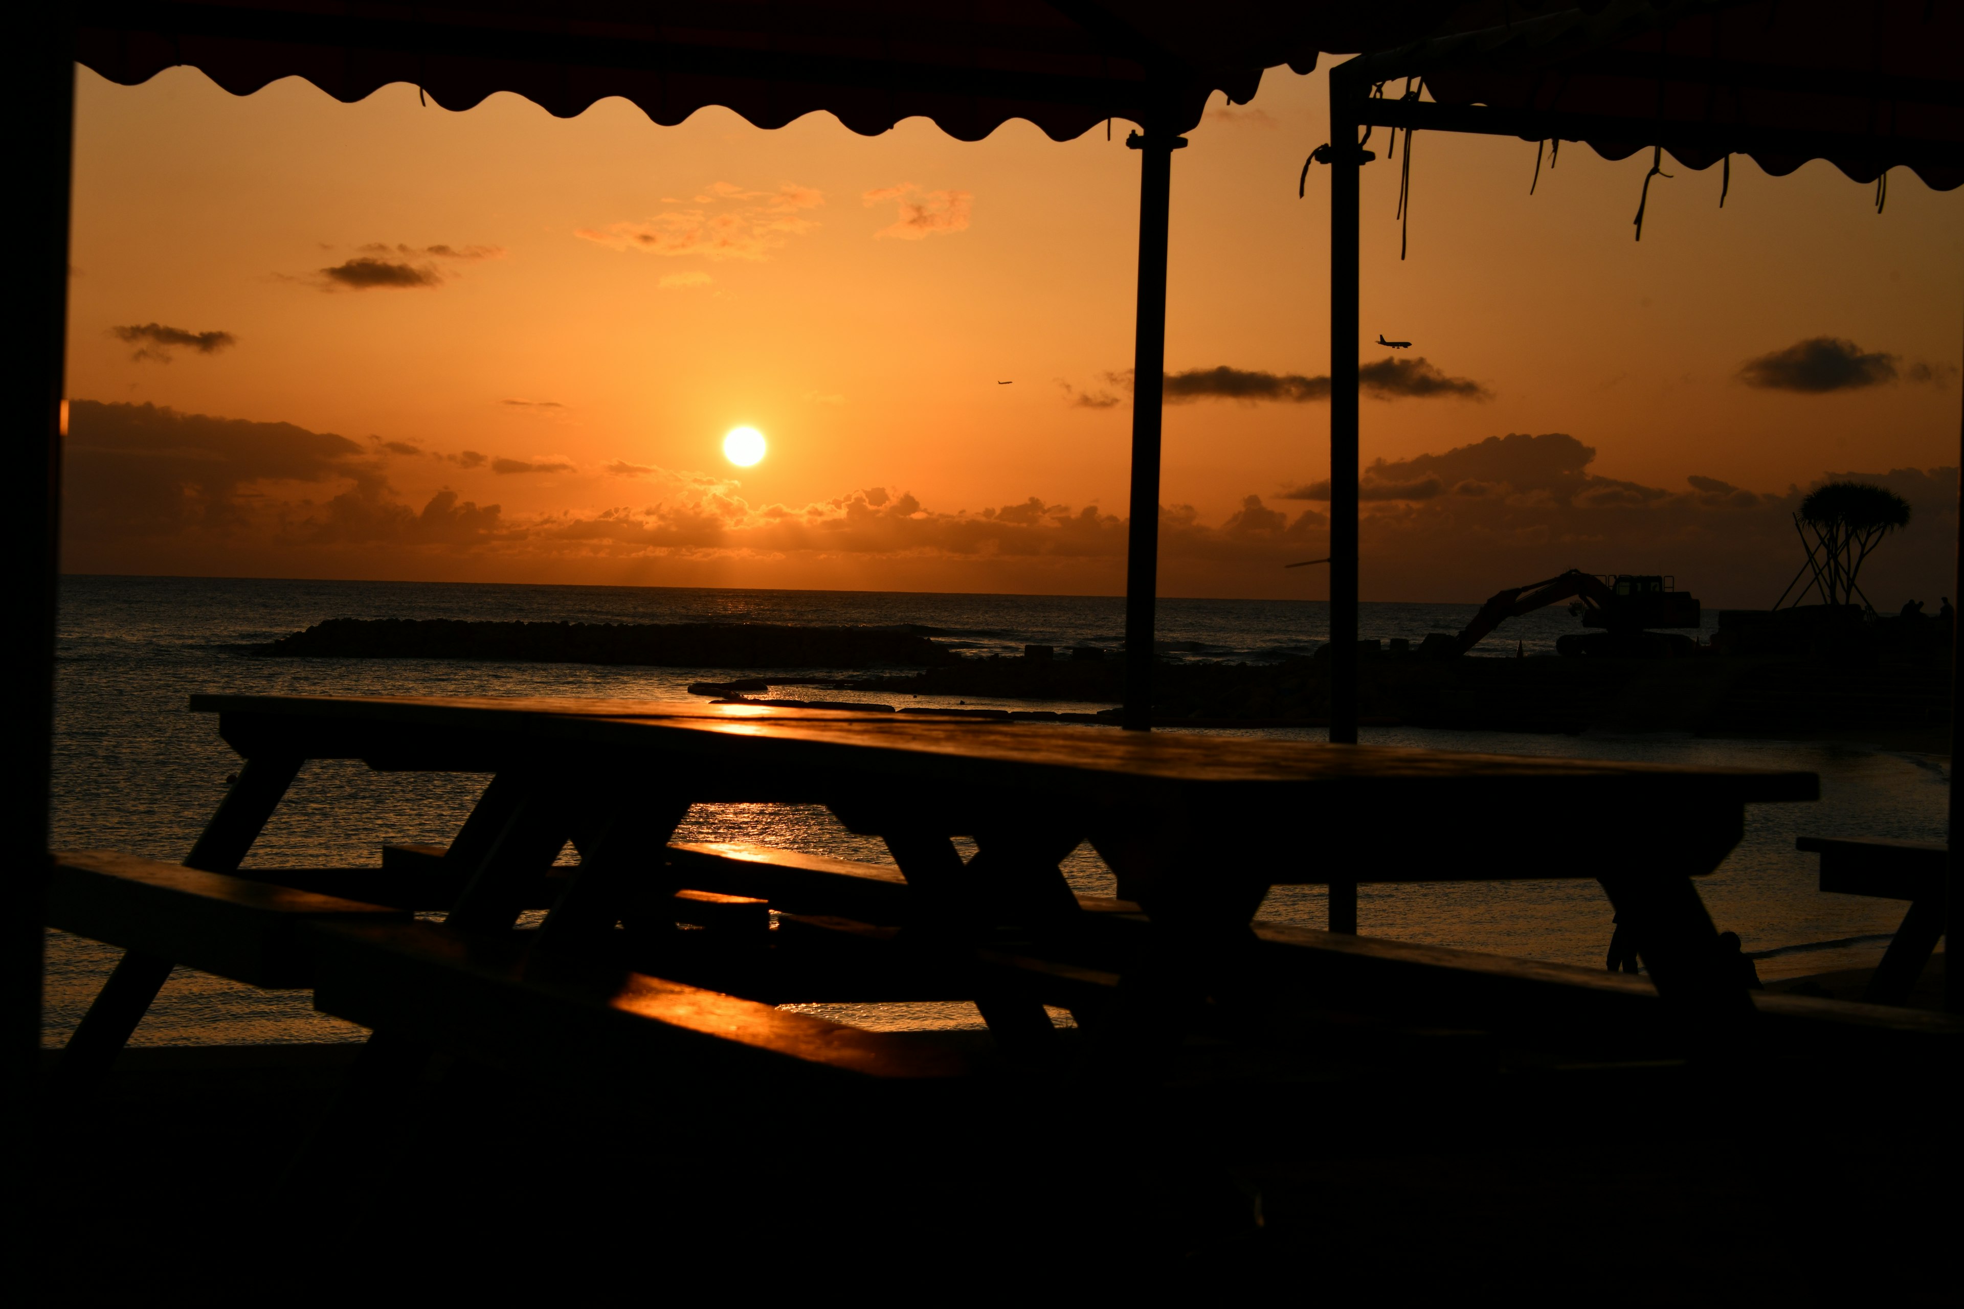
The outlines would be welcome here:
M 1675 589 L 1677 579 L 1640 573 L 1618 573 L 1614 577 L 1569 569 L 1559 577 L 1508 587 L 1481 604 L 1473 622 L 1459 636 L 1434 640 L 1428 646 L 1446 646 L 1442 654 L 1463 655 L 1481 644 L 1489 632 L 1506 618 L 1532 614 L 1538 608 L 1573 601 L 1569 612 L 1583 620 L 1583 626 L 1605 628 L 1603 632 L 1571 632 L 1555 642 L 1555 654 L 1595 655 L 1595 657 L 1638 657 L 1667 659 L 1697 654 L 1699 644 L 1691 636 L 1675 632 L 1652 632 L 1650 628 L 1695 628 L 1701 612 L 1697 597 Z M 1440 634 L 1444 636 L 1444 634 Z

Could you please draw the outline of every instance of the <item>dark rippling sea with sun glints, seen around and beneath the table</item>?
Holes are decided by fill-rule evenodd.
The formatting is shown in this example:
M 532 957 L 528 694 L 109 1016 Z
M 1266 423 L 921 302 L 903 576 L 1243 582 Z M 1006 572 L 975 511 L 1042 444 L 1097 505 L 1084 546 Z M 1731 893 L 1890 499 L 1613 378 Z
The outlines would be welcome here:
M 1363 604 L 1361 634 L 1414 644 L 1457 632 L 1477 604 Z M 1021 654 L 1025 644 L 1121 646 L 1119 597 L 937 595 L 888 591 L 736 591 L 664 587 L 544 587 L 473 583 L 269 581 L 191 577 L 65 577 L 57 646 L 53 844 L 183 860 L 226 791 L 238 758 L 216 720 L 189 710 L 196 693 L 481 695 L 685 699 L 689 683 L 731 669 L 601 667 L 440 659 L 265 659 L 251 646 L 326 618 L 495 618 L 528 622 L 782 622 L 900 628 L 970 655 Z M 1314 652 L 1330 612 L 1318 601 L 1163 599 L 1157 638 L 1171 659 L 1277 661 Z M 1473 657 L 1552 655 L 1581 630 L 1565 610 L 1508 620 Z M 1709 636 L 1709 632 L 1705 634 Z M 776 669 L 786 677 L 833 669 Z M 742 675 L 756 675 L 744 669 Z M 827 699 L 797 689 L 799 699 Z M 837 693 L 846 695 L 846 693 Z M 866 699 L 854 693 L 852 699 Z M 913 697 L 909 705 L 956 703 Z M 1027 707 L 966 699 L 970 707 Z M 1045 703 L 1106 708 L 1108 703 Z M 1045 730 L 1110 732 L 1106 726 Z M 1320 740 L 1316 730 L 1206 730 L 1220 736 Z M 1361 740 L 1418 750 L 1632 759 L 1650 763 L 1807 769 L 1821 801 L 1754 805 L 1746 834 L 1701 881 L 1720 928 L 1740 934 L 1766 979 L 1874 964 L 1903 907 L 1815 889 L 1815 856 L 1795 836 L 1942 840 L 1950 759 L 1860 740 L 1722 740 L 1689 734 L 1457 732 L 1367 726 Z M 481 777 L 371 773 L 355 761 L 308 763 L 259 838 L 261 867 L 375 865 L 383 844 L 444 844 L 464 822 Z M 1424 814 L 1414 814 L 1424 820 Z M 1326 818 L 1328 820 L 1328 818 Z M 1669 814 L 1603 814 L 1614 840 L 1630 822 Z M 1224 838 L 1237 834 L 1222 834 Z M 1290 824 L 1265 838 L 1304 842 Z M 846 832 L 827 811 L 795 805 L 697 805 L 678 840 L 752 840 L 813 854 L 892 864 L 876 838 Z M 1601 968 L 1610 909 L 1587 877 L 1589 852 L 1544 840 L 1534 814 L 1495 814 L 1465 834 L 1469 852 L 1499 844 L 1524 865 L 1563 879 L 1510 883 L 1365 885 L 1359 930 L 1465 950 Z M 570 858 L 570 856 L 568 856 Z M 1371 860 L 1394 864 L 1398 834 L 1383 832 Z M 1086 846 L 1064 862 L 1082 893 L 1112 893 L 1110 869 Z M 1318 887 L 1277 887 L 1265 918 L 1326 922 Z M 118 954 L 98 942 L 47 934 L 43 1044 L 59 1046 L 81 1021 Z M 866 1028 L 980 1026 L 970 1005 L 803 1005 Z M 1059 1015 L 1059 1021 L 1068 1021 Z M 318 1015 L 304 991 L 257 991 L 177 969 L 136 1032 L 136 1044 L 277 1044 L 361 1040 L 354 1024 Z

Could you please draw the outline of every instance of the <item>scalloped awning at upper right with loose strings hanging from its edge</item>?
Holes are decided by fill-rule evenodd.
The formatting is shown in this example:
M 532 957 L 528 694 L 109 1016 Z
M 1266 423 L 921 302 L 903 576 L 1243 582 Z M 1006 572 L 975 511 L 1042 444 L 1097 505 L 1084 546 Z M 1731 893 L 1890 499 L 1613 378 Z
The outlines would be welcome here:
M 1748 155 L 1775 177 L 1827 159 L 1858 183 L 1907 167 L 1964 184 L 1964 4 L 1956 0 L 1612 0 L 1500 22 L 1343 65 L 1424 79 L 1432 100 L 1365 108 L 1387 128 L 1664 147 L 1705 169 Z

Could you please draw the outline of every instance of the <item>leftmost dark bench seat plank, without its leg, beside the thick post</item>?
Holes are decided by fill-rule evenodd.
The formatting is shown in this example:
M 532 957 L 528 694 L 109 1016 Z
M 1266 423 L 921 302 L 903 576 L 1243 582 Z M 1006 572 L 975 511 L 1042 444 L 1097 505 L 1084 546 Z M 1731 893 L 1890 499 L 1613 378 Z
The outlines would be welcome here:
M 304 987 L 299 924 L 407 920 L 383 905 L 100 850 L 57 852 L 47 924 L 257 987 Z

